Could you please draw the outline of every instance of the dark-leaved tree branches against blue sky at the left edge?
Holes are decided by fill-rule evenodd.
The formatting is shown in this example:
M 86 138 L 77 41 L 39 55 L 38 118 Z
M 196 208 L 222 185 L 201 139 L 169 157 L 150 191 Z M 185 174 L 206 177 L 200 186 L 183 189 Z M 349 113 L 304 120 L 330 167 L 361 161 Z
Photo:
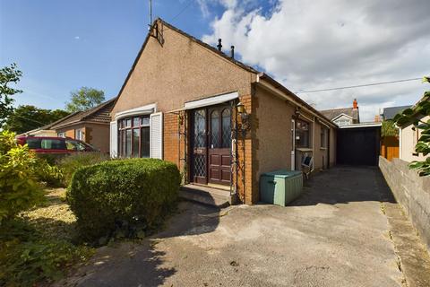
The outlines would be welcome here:
M 13 112 L 12 96 L 22 92 L 11 88 L 9 84 L 20 82 L 21 77 L 22 72 L 16 68 L 14 63 L 0 69 L 0 126 L 4 124 L 6 117 Z

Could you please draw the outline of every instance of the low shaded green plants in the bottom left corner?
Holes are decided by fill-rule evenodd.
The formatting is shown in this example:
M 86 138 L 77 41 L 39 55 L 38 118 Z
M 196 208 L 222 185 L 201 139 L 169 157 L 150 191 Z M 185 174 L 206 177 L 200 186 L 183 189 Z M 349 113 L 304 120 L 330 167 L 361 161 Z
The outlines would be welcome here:
M 0 228 L 0 286 L 39 286 L 64 275 L 70 265 L 87 260 L 93 250 L 44 236 L 27 222 Z

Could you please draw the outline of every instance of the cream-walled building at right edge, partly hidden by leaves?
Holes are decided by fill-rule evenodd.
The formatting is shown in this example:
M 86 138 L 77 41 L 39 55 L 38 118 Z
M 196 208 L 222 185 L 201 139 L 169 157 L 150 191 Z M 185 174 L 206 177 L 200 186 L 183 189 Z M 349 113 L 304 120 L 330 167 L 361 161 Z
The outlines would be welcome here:
M 430 98 L 427 96 L 423 97 L 421 100 L 417 102 L 417 104 L 421 101 L 430 101 Z M 417 105 L 416 104 L 416 105 Z M 409 107 L 410 108 L 410 107 Z M 402 109 L 403 110 L 403 109 Z M 402 111 L 400 110 L 400 111 Z M 421 121 L 427 122 L 430 120 L 429 116 L 419 117 Z M 400 160 L 403 161 L 423 161 L 429 156 L 425 156 L 422 153 L 415 152 L 415 145 L 418 143 L 418 139 L 421 136 L 422 130 L 416 128 L 412 123 L 409 123 L 404 126 L 400 126 Z

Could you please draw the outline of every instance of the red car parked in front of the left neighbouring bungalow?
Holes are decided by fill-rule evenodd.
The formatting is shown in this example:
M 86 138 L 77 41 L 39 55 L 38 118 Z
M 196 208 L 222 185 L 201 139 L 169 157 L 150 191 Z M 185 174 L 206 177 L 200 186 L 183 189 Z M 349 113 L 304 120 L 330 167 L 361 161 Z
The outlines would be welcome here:
M 27 143 L 30 150 L 36 153 L 70 154 L 73 152 L 99 152 L 99 150 L 90 144 L 73 140 L 69 137 L 19 136 L 16 140 L 22 145 Z

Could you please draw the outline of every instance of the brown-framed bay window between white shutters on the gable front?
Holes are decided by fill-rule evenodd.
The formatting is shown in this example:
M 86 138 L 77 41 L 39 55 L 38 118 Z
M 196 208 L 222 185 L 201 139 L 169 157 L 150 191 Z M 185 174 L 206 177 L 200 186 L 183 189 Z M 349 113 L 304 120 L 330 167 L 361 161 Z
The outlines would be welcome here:
M 118 120 L 119 155 L 123 158 L 150 157 L 150 116 Z

